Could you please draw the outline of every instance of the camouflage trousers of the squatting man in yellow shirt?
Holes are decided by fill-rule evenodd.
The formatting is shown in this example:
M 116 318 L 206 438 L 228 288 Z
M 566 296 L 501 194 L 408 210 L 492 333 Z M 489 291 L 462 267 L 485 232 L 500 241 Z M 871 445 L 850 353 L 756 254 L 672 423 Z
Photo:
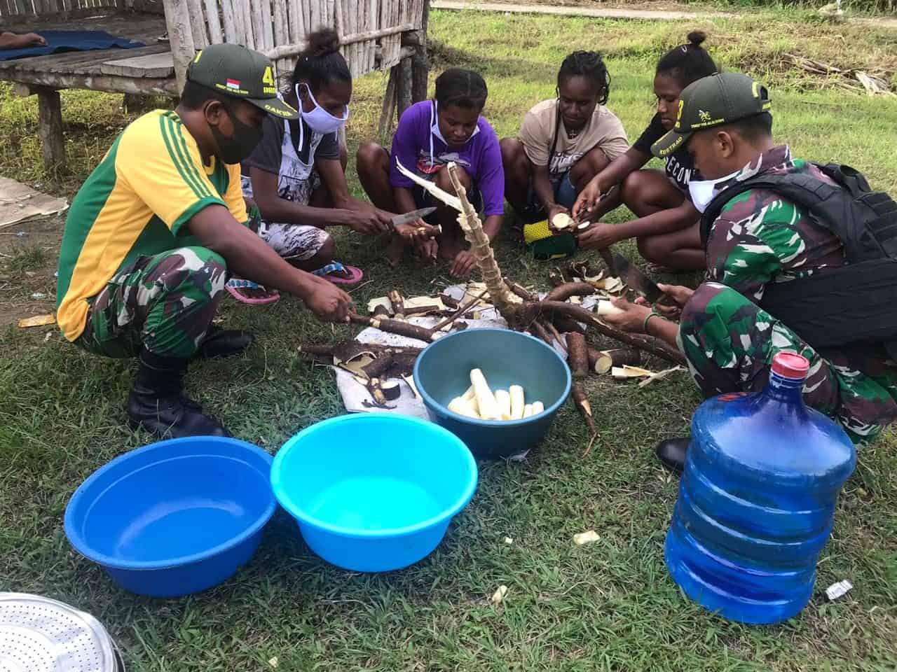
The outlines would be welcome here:
M 93 297 L 75 345 L 97 355 L 159 357 L 196 352 L 224 296 L 227 267 L 205 247 L 142 256 Z

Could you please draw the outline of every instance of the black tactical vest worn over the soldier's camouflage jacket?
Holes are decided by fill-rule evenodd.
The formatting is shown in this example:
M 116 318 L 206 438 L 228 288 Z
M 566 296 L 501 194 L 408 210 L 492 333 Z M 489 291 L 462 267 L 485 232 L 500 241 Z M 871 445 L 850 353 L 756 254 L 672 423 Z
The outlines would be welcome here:
M 845 265 L 770 282 L 760 306 L 816 349 L 881 343 L 897 358 L 897 202 L 874 192 L 849 166 L 816 165 L 834 185 L 807 174 L 760 174 L 729 186 L 701 217 L 701 243 L 738 194 L 767 189 L 807 211 L 839 238 Z

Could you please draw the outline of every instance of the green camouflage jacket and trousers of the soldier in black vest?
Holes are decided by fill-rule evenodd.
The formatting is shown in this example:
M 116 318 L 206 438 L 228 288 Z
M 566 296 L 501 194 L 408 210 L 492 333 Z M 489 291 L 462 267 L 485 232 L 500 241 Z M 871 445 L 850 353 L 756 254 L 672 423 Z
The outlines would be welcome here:
M 738 177 L 762 172 L 829 179 L 813 164 L 792 159 L 784 146 L 762 154 Z M 897 418 L 897 367 L 884 346 L 817 352 L 757 306 L 767 283 L 805 278 L 843 260 L 840 240 L 777 194 L 753 189 L 729 201 L 708 240 L 711 281 L 685 306 L 679 328 L 679 347 L 701 392 L 759 391 L 773 355 L 797 352 L 810 360 L 806 403 L 838 420 L 855 443 L 879 435 Z

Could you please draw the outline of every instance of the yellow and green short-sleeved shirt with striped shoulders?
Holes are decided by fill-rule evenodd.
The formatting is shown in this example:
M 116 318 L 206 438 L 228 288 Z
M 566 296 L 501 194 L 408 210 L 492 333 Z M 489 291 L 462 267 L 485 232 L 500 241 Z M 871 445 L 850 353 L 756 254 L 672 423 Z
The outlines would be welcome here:
M 68 340 L 84 330 L 95 297 L 138 257 L 196 245 L 183 225 L 206 205 L 247 220 L 239 165 L 205 165 L 174 112 L 153 110 L 118 135 L 75 195 L 59 254 L 57 323 Z

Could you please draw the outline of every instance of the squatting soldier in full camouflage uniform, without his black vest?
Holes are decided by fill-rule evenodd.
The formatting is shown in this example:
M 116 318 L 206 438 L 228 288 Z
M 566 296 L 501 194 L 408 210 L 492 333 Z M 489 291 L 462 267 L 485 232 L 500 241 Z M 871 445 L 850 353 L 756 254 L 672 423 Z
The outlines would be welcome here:
M 683 91 L 674 131 L 652 151 L 663 156 L 687 147 L 708 178 L 690 185 L 692 202 L 700 211 L 714 195 L 754 176 L 808 174 L 833 185 L 813 164 L 792 159 L 787 146 L 773 144 L 769 109 L 766 90 L 749 77 L 706 77 Z M 658 314 L 625 300 L 617 302 L 623 314 L 605 319 L 678 345 L 706 396 L 760 391 L 772 358 L 789 351 L 810 361 L 806 403 L 840 422 L 854 443 L 872 441 L 897 418 L 897 365 L 884 344 L 814 349 L 788 327 L 788 311 L 779 312 L 777 319 L 759 306 L 771 283 L 843 266 L 839 237 L 780 194 L 749 188 L 723 205 L 706 246 L 707 282 L 693 292 L 660 286 L 682 306 L 678 325 L 665 319 L 678 309 L 658 306 L 664 313 Z M 661 461 L 681 471 L 688 441 L 661 442 Z

